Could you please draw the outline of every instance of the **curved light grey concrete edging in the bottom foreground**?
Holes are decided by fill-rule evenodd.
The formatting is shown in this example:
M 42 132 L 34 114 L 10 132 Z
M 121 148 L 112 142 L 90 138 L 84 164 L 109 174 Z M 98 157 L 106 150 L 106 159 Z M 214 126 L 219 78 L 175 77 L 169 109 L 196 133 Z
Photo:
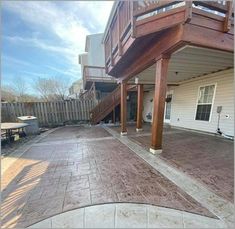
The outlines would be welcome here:
M 219 219 L 148 204 L 110 203 L 67 211 L 28 228 L 225 228 Z

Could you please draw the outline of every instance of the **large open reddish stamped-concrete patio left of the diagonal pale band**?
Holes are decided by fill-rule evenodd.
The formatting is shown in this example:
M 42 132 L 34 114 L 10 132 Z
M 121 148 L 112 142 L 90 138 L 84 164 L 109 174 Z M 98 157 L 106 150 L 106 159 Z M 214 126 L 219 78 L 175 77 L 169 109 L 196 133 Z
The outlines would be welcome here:
M 48 139 L 61 137 L 64 130 L 65 139 L 68 127 Z M 70 130 L 76 136 L 84 131 Z M 86 131 L 97 138 L 102 132 L 104 138 L 35 144 L 4 173 L 3 227 L 25 227 L 67 210 L 107 202 L 150 203 L 213 217 L 101 127 Z

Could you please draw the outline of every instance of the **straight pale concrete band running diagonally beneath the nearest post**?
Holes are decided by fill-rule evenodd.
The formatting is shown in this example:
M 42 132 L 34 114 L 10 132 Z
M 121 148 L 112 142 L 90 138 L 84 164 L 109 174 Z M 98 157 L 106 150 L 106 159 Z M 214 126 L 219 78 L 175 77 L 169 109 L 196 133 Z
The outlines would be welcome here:
M 128 136 L 120 137 L 118 133 L 107 126 L 103 126 L 116 139 L 130 148 L 134 153 L 151 165 L 154 169 L 180 187 L 183 191 L 198 201 L 203 207 L 215 214 L 221 221 L 226 223 L 227 227 L 234 227 L 234 204 L 219 197 L 207 189 L 203 184 L 191 178 L 185 173 L 169 165 L 157 155 L 153 155 L 131 141 Z

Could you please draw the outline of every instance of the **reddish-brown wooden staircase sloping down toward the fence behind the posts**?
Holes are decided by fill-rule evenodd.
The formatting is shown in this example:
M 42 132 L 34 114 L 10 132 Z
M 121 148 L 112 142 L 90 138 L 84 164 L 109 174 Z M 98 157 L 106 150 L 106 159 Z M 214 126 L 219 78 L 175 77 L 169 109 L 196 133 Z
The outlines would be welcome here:
M 136 88 L 136 85 L 128 85 L 127 90 Z M 112 93 L 105 96 L 91 111 L 90 122 L 95 125 L 102 121 L 113 109 L 120 104 L 121 88 L 118 86 Z

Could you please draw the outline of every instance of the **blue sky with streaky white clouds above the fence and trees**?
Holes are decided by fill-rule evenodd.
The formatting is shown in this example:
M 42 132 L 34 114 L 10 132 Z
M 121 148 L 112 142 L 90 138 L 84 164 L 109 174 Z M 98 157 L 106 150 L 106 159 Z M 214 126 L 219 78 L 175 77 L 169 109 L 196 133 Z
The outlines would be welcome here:
M 81 78 L 78 54 L 86 35 L 103 32 L 111 1 L 3 1 L 2 85 L 25 79 L 34 94 L 38 77 Z

